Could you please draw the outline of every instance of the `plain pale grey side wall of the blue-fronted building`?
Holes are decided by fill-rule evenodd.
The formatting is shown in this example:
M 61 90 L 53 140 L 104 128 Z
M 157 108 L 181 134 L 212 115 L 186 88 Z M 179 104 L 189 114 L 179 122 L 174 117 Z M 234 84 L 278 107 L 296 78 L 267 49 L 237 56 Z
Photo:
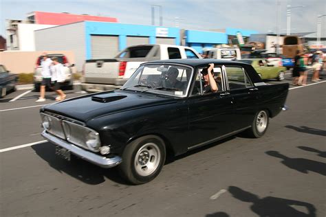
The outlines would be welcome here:
M 86 59 L 85 23 L 59 25 L 35 31 L 36 51 L 66 50 L 75 54 L 77 71 L 83 70 Z

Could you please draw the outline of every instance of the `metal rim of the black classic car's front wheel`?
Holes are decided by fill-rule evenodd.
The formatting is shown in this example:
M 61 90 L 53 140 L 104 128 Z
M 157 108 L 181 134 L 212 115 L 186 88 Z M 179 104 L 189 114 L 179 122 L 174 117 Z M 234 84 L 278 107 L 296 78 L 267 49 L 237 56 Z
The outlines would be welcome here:
M 160 148 L 156 144 L 144 144 L 135 155 L 135 171 L 140 176 L 149 176 L 157 169 L 160 159 Z

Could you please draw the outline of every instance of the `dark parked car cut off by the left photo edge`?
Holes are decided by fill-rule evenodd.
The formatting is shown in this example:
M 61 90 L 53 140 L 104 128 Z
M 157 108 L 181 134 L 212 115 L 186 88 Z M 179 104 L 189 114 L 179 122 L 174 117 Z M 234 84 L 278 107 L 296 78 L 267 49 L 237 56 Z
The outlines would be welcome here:
M 10 73 L 4 65 L 0 65 L 0 98 L 4 98 L 9 91 L 16 91 L 17 74 Z

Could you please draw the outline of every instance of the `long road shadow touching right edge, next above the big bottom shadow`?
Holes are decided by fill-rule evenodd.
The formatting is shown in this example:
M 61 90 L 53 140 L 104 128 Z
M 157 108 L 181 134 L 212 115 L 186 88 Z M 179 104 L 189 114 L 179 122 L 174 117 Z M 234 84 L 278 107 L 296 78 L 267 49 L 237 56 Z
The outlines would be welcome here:
M 309 171 L 312 171 L 326 176 L 326 163 L 321 163 L 318 161 L 312 161 L 303 158 L 290 158 L 274 150 L 269 150 L 265 153 L 272 157 L 278 157 L 280 159 L 283 159 L 281 163 L 286 165 L 288 168 L 291 168 L 298 172 L 307 174 Z

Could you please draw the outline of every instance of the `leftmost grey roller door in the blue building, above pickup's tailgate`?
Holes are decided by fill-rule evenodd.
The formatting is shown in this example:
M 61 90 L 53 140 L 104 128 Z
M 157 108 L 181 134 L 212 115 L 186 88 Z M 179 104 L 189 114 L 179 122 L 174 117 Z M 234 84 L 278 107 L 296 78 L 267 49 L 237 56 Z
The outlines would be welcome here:
M 113 58 L 119 52 L 118 36 L 91 36 L 91 58 Z

